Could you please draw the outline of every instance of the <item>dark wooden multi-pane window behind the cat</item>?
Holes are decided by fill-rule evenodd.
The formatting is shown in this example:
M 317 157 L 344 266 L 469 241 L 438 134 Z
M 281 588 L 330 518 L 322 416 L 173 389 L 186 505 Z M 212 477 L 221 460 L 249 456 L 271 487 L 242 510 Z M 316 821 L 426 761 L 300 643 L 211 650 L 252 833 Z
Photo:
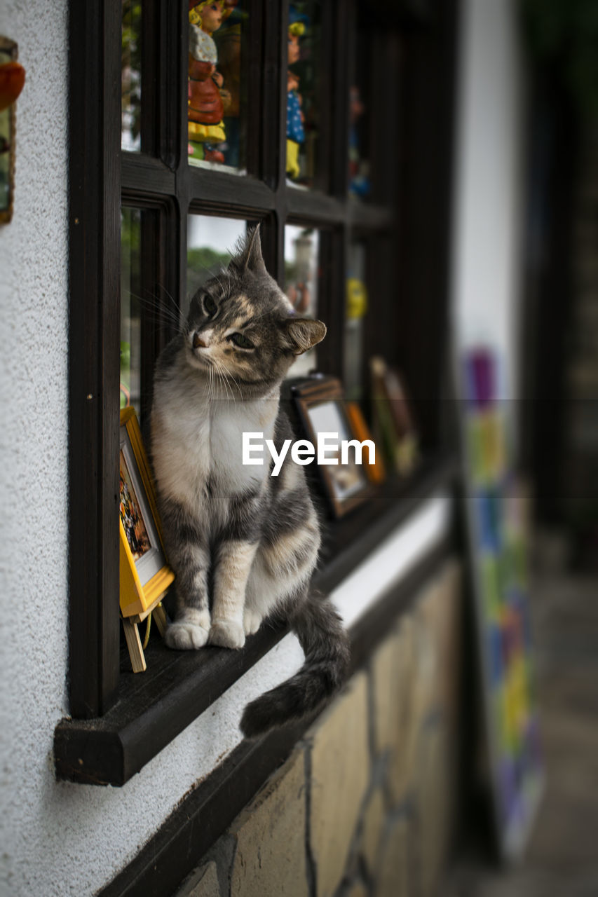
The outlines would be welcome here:
M 365 399 L 366 359 L 382 353 L 405 373 L 428 457 L 444 446 L 452 121 L 444 74 L 454 16 L 424 4 L 436 19 L 421 43 L 403 31 L 396 4 L 240 0 L 225 4 L 228 19 L 222 3 L 207 5 L 220 24 L 210 40 L 196 35 L 190 68 L 201 10 L 189 17 L 188 3 L 71 4 L 75 718 L 99 717 L 123 694 L 119 406 L 130 402 L 146 419 L 157 354 L 248 223 L 261 222 L 268 270 L 295 307 L 329 327 L 293 373 L 317 366 Z M 199 120 L 206 71 L 223 100 L 213 123 Z M 291 136 L 289 104 L 302 126 Z M 367 305 L 347 312 L 351 279 Z M 384 501 L 388 511 L 391 497 Z M 359 520 L 330 544 L 379 520 L 378 510 L 356 511 Z

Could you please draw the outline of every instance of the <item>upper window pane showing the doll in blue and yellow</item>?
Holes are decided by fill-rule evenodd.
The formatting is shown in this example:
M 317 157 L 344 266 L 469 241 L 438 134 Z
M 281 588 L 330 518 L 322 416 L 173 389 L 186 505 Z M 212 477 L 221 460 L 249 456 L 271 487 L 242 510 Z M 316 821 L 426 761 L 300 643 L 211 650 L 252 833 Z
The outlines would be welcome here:
M 320 4 L 289 4 L 286 78 L 286 176 L 305 187 L 326 187 L 318 180 L 321 60 Z

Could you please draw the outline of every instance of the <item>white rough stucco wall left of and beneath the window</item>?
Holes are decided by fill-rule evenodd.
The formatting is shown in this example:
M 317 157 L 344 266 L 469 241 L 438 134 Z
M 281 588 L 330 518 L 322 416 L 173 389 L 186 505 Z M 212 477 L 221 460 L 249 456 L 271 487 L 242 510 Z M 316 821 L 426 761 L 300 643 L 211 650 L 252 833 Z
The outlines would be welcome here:
M 292 673 L 287 638 L 125 788 L 57 782 L 52 740 L 67 713 L 66 0 L 4 0 L 19 43 L 13 222 L 0 227 L 0 894 L 85 897 L 124 867 L 239 740 L 244 703 Z M 371 596 L 446 527 L 446 496 L 386 545 Z M 384 548 L 384 546 L 383 546 Z M 363 612 L 358 580 L 336 593 Z

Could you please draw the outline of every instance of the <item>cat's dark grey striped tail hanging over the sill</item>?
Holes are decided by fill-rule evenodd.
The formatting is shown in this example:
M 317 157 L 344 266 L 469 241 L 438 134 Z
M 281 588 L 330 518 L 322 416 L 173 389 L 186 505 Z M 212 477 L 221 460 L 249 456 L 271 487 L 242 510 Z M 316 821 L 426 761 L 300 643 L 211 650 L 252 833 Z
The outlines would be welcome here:
M 307 596 L 290 614 L 289 622 L 303 648 L 305 662 L 286 682 L 247 705 L 241 729 L 248 738 L 315 712 L 339 691 L 347 676 L 347 632 L 330 601 L 318 595 Z

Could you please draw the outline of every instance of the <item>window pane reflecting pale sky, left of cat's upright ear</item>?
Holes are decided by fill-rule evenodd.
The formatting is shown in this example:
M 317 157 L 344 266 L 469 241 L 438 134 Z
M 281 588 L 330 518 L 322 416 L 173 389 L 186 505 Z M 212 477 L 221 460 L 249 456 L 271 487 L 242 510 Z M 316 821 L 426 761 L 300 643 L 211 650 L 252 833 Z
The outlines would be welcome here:
M 187 306 L 202 283 L 226 268 L 247 222 L 236 218 L 190 214 L 187 222 Z

